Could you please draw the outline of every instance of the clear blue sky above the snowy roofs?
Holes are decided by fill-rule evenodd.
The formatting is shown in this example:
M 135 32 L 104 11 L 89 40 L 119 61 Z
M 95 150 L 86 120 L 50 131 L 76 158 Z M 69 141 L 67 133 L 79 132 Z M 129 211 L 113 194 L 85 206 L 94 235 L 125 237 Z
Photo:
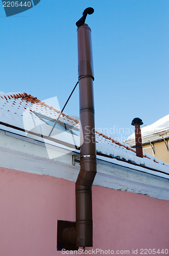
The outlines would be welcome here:
M 146 125 L 168 114 L 168 0 L 41 0 L 11 17 L 0 3 L 1 91 L 57 96 L 62 108 L 78 80 L 75 23 L 87 7 L 96 129 L 123 140 L 134 117 Z M 65 112 L 79 115 L 78 89 Z

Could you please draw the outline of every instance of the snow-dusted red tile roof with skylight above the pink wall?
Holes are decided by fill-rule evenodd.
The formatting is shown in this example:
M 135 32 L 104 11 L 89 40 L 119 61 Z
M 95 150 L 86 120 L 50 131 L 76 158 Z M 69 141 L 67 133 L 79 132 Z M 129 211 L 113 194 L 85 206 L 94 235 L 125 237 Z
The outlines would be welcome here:
M 59 114 L 60 111 L 30 94 L 0 92 L 1 130 L 79 152 L 80 124 L 77 119 L 62 113 L 49 137 Z M 96 132 L 96 151 L 100 159 L 123 166 L 134 165 L 135 169 L 143 167 L 143 172 L 153 174 L 155 172 L 155 175 L 168 178 L 169 164 L 149 155 L 139 158 L 130 146 L 98 132 Z

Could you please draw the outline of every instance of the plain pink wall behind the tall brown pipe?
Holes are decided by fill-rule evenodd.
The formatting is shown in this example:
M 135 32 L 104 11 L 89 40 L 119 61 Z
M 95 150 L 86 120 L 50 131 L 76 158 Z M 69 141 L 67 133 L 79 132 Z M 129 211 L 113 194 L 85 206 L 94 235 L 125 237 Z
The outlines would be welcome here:
M 130 254 L 134 248 L 137 255 L 140 248 L 169 249 L 169 201 L 92 191 L 93 248 Z M 56 250 L 57 220 L 75 221 L 74 182 L 0 168 L 1 256 L 63 255 Z

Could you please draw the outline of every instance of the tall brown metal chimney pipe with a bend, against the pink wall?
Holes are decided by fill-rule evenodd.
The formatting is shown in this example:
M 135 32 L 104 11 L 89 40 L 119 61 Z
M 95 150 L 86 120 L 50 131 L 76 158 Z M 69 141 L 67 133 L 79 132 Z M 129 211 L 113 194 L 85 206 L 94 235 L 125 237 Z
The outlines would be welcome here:
M 80 91 L 80 172 L 76 181 L 76 246 L 92 246 L 92 193 L 96 175 L 93 60 L 91 29 L 87 24 L 79 26 L 78 65 Z

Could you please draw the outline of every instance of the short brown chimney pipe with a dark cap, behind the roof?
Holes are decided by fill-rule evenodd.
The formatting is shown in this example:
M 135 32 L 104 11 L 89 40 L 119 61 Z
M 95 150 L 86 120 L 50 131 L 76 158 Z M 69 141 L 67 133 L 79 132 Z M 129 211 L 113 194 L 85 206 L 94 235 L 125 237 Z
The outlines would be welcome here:
M 135 147 L 136 147 L 136 156 L 143 158 L 142 153 L 142 139 L 141 139 L 141 129 L 140 125 L 143 124 L 142 120 L 138 117 L 134 118 L 132 125 L 135 126 Z

